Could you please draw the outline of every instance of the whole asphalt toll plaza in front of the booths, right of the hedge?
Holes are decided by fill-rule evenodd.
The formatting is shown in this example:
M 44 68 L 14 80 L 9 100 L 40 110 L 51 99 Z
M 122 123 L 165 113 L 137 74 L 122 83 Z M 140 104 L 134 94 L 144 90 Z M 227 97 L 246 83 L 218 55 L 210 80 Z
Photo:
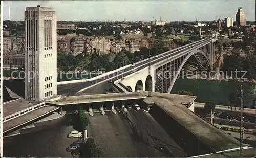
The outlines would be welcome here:
M 105 115 L 88 115 L 88 137 L 103 153 L 103 157 L 186 157 L 164 129 L 143 110 L 121 109 Z M 127 117 L 128 116 L 128 117 Z

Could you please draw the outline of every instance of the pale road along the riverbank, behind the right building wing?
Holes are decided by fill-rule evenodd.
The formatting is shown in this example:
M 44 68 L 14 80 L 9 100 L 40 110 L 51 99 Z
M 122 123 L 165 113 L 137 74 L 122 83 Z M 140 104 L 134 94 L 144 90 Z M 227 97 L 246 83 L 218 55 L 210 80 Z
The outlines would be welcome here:
M 204 108 L 204 105 L 205 105 L 205 103 L 195 102 L 195 108 Z M 237 110 L 234 110 L 234 108 L 232 108 L 232 110 L 231 110 L 231 107 L 227 108 L 227 106 L 223 106 L 223 105 L 216 105 L 215 111 L 226 111 L 226 112 L 230 112 L 230 113 L 240 114 L 239 107 L 237 107 Z M 244 108 L 244 114 L 247 114 L 247 115 L 250 115 L 250 116 L 255 116 L 256 115 L 256 110 L 251 109 L 251 108 Z

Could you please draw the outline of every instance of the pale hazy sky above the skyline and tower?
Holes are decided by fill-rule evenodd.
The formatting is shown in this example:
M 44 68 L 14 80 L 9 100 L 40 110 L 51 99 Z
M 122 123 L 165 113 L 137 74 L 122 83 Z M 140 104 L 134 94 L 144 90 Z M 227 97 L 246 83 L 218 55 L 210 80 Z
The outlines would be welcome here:
M 58 21 L 150 21 L 152 17 L 169 21 L 235 19 L 242 7 L 247 21 L 255 20 L 255 0 L 158 0 L 158 1 L 4 1 L 3 19 L 24 20 L 26 7 L 54 7 Z

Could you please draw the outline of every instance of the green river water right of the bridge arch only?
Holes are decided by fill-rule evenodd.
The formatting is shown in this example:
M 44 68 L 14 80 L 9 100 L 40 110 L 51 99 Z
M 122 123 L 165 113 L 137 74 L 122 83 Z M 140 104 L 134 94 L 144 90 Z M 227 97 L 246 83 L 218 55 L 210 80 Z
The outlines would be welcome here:
M 233 91 L 239 90 L 243 85 L 244 106 L 250 106 L 253 100 L 253 90 L 255 93 L 256 84 L 245 82 L 231 82 L 231 81 L 211 81 L 199 79 L 178 79 L 176 80 L 171 93 L 185 90 L 190 91 L 197 96 L 196 102 L 213 101 L 217 105 L 230 104 L 229 94 Z M 254 97 L 255 94 L 254 94 Z

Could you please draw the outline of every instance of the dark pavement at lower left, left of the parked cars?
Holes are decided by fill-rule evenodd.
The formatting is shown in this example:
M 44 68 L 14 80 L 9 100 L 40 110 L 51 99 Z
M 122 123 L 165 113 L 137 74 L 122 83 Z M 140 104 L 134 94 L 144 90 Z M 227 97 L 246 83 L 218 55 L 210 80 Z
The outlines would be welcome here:
M 66 151 L 77 138 L 67 138 L 74 130 L 66 126 L 68 115 L 60 120 L 40 123 L 40 126 L 23 130 L 21 135 L 4 138 L 5 157 L 73 157 Z

